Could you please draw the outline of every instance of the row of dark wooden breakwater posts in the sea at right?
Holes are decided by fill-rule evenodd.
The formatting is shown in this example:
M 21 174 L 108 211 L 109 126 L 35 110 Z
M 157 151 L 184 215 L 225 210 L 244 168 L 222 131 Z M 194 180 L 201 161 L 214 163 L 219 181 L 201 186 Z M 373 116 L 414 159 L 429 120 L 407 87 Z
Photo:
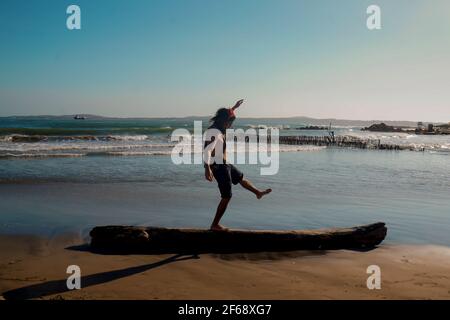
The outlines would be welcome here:
M 279 143 L 379 150 L 407 149 L 405 146 L 381 143 L 379 139 L 361 139 L 352 136 L 280 136 Z

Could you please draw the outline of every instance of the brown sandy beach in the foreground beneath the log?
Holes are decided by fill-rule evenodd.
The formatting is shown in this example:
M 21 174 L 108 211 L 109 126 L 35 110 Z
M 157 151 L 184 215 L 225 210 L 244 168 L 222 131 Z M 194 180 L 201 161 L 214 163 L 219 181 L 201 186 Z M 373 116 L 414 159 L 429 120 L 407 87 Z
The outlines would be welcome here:
M 0 236 L 2 299 L 449 299 L 450 248 L 102 255 L 75 235 Z M 68 265 L 81 290 L 68 291 Z M 366 269 L 381 268 L 369 290 Z

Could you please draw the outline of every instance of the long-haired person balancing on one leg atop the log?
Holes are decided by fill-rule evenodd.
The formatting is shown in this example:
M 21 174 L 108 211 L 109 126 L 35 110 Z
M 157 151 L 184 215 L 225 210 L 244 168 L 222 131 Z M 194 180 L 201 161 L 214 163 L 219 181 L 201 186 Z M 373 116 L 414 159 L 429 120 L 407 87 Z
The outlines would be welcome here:
M 264 195 L 272 191 L 272 189 L 261 191 L 255 188 L 249 180 L 244 178 L 244 174 L 241 171 L 226 161 L 226 130 L 233 124 L 233 121 L 236 119 L 235 110 L 243 102 L 244 100 L 239 100 L 232 108 L 221 108 L 217 110 L 215 116 L 211 118 L 212 124 L 208 128 L 208 130 L 214 130 L 216 134 L 207 134 L 207 136 L 211 137 L 211 141 L 205 142 L 205 178 L 208 181 L 213 181 L 213 177 L 216 179 L 221 195 L 216 215 L 210 227 L 211 230 L 215 231 L 227 230 L 219 222 L 231 200 L 232 184 L 236 185 L 239 183 L 245 189 L 253 192 L 258 199 L 261 199 Z M 219 149 L 219 153 L 222 151 L 221 157 L 219 158 L 217 158 L 219 154 L 216 152 L 218 147 L 222 147 Z M 211 163 L 211 157 L 215 158 L 213 163 Z

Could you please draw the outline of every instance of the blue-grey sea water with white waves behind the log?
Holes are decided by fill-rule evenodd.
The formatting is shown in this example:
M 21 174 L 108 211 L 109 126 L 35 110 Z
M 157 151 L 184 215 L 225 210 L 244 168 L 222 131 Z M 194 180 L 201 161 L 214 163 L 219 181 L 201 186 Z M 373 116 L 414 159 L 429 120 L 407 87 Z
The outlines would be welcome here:
M 177 166 L 169 156 L 171 130 L 190 126 L 186 119 L 0 120 L 0 233 L 87 235 L 105 224 L 208 227 L 220 199 L 216 183 L 204 179 L 201 165 Z M 450 139 L 396 136 L 377 134 L 427 149 L 286 146 L 276 175 L 239 165 L 273 192 L 257 200 L 234 186 L 223 224 L 284 230 L 384 221 L 388 242 L 450 245 Z

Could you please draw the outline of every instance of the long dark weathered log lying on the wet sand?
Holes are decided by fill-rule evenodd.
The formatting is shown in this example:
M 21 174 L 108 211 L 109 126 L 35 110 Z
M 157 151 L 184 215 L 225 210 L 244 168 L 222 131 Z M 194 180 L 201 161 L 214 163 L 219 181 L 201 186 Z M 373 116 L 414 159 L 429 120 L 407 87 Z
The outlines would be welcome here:
M 320 230 L 167 229 L 102 226 L 90 232 L 95 251 L 120 253 L 223 253 L 371 248 L 386 237 L 385 223 Z

